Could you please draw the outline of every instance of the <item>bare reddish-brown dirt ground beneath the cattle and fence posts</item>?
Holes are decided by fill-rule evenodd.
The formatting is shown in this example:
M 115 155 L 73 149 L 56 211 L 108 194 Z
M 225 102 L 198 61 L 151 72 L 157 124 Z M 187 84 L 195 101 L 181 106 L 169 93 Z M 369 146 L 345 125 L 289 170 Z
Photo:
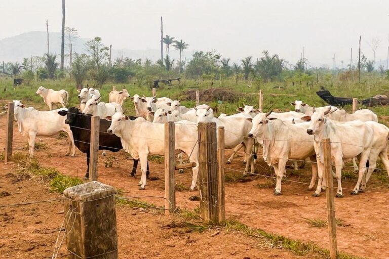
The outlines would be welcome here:
M 4 128 L 5 116 L 0 117 L 0 149 L 5 146 Z M 35 151 L 36 157 L 44 166 L 58 168 L 63 174 L 83 177 L 86 171 L 85 155 L 77 150 L 76 157 L 65 157 L 66 140 L 56 137 L 43 137 L 48 149 Z M 26 138 L 14 128 L 14 150 L 27 152 L 23 149 Z M 229 155 L 229 152 L 227 152 Z M 107 152 L 108 156 L 115 156 L 116 160 L 112 167 L 105 168 L 104 161 L 99 156 L 99 181 L 116 188 L 122 189 L 125 196 L 163 196 L 164 195 L 164 164 L 158 161 L 150 162 L 151 176 L 159 177 L 160 180 L 148 181 L 146 190 L 139 191 L 138 179 L 129 177 L 132 161 L 126 159 L 125 153 Z M 243 170 L 242 157 L 235 159 L 228 168 Z M 46 187 L 31 182 L 22 181 L 17 184 L 8 183 L 10 180 L 5 176 L 9 172 L 9 165 L 1 164 L 2 180 L 0 192 L 7 191 L 17 193 L 0 198 L 0 204 L 9 204 L 21 201 L 40 200 L 43 197 L 50 199 L 58 195 L 48 193 Z M 257 162 L 258 174 L 269 174 L 270 169 L 262 159 Z M 287 169 L 288 179 L 309 183 L 310 166 L 300 169 L 291 175 L 291 169 Z M 233 172 L 226 170 L 226 175 Z M 235 174 L 239 175 L 239 174 Z M 386 176 L 387 177 L 387 176 Z M 177 205 L 183 208 L 193 209 L 199 205 L 198 201 L 190 201 L 192 195 L 198 195 L 198 191 L 188 191 L 190 186 L 190 171 L 184 174 L 176 174 Z M 292 239 L 304 242 L 316 243 L 323 248 L 329 247 L 327 228 L 313 228 L 305 219 L 325 220 L 326 198 L 312 197 L 312 191 L 307 190 L 307 185 L 283 182 L 283 195 L 274 196 L 273 188 L 268 188 L 268 179 L 262 177 L 250 177 L 245 183 L 226 182 L 226 218 L 238 219 L 251 227 L 260 228 L 269 233 L 277 233 Z M 353 188 L 356 180 L 343 181 L 343 188 Z M 336 184 L 336 183 L 335 183 Z M 372 179 L 369 182 L 368 191 L 357 196 L 349 195 L 349 190 L 344 190 L 344 198 L 335 199 L 336 218 L 341 219 L 346 227 L 337 227 L 338 249 L 348 254 L 369 257 L 389 258 L 389 186 L 387 181 Z M 28 191 L 28 193 L 27 193 Z M 163 199 L 140 198 L 157 205 L 163 205 Z M 57 214 L 63 210 L 61 202 L 29 205 L 28 207 L 12 207 L 0 209 L 3 213 L 3 221 L 0 222 L 2 233 L 0 236 L 0 257 L 23 257 L 23 254 L 38 253 L 38 257 L 51 256 L 54 241 L 58 232 L 44 234 L 58 229 L 63 220 L 63 214 Z M 4 213 L 7 212 L 8 216 Z M 125 257 L 171 257 L 172 250 L 179 254 L 187 254 L 191 258 L 211 257 L 234 257 L 251 258 L 277 257 L 295 258 L 288 252 L 260 248 L 255 241 L 237 234 L 225 234 L 209 238 L 210 233 L 179 233 L 177 230 L 161 229 L 161 225 L 171 220 L 166 216 L 147 214 L 135 216 L 128 208 L 118 209 L 118 226 L 120 254 Z M 6 218 L 8 217 L 8 218 Z M 9 219 L 11 217 L 12 219 Z M 147 220 L 145 220 L 147 218 Z M 305 218 L 305 219 L 304 219 Z M 0 218 L 1 219 L 1 218 Z M 6 220 L 4 220 L 6 219 Z M 124 220 L 126 219 L 126 220 Z M 129 219 L 129 220 L 127 220 Z M 41 222 L 42 223 L 39 223 Z M 38 222 L 38 223 L 37 223 Z M 23 235 L 20 235 L 20 232 Z M 34 233 L 36 232 L 36 233 Z M 133 234 L 132 234 L 133 233 Z M 187 236 L 190 236 L 187 238 Z M 4 238 L 2 238 L 4 237 Z M 188 242 L 190 240 L 190 242 Z M 196 240 L 191 242 L 191 240 Z M 130 242 L 127 242 L 130 241 Z M 157 242 L 156 242 L 157 241 Z M 215 246 L 212 246 L 214 244 Z M 31 247 L 32 250 L 28 250 Z M 204 249 L 206 248 L 206 249 Z M 222 249 L 220 249 L 222 248 Z M 248 250 L 246 250 L 248 249 Z M 131 253 L 130 253 L 131 252 Z M 135 252 L 135 253 L 134 253 Z M 136 256 L 135 256 L 136 254 Z M 266 254 L 264 256 L 259 254 Z

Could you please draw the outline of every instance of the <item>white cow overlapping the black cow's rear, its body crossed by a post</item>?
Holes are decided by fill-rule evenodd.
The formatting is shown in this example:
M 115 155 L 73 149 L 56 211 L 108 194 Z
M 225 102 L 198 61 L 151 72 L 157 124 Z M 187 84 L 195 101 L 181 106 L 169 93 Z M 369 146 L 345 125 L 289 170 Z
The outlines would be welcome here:
M 107 132 L 120 137 L 124 150 L 130 153 L 134 159 L 140 159 L 142 177 L 139 182 L 139 189 L 144 190 L 147 156 L 164 155 L 165 153 L 165 125 L 151 123 L 144 118 L 137 118 L 132 121 L 121 112 L 116 112 L 113 116 L 107 116 L 106 119 L 111 121 Z M 190 189 L 194 190 L 199 172 L 199 144 L 196 123 L 185 120 L 176 122 L 175 136 L 174 149 L 184 152 L 189 157 L 190 162 L 196 163 L 196 166 L 192 168 L 193 178 L 190 186 Z

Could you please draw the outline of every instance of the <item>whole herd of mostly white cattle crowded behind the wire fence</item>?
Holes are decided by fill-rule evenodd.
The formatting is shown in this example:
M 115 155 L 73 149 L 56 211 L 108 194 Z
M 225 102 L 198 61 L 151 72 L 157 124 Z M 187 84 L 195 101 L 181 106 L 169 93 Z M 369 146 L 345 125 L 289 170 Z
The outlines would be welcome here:
M 287 161 L 305 159 L 312 162 L 309 189 L 317 184 L 314 196 L 320 195 L 325 186 L 323 138 L 331 140 L 334 176 L 338 183 L 336 197 L 343 196 L 341 170 L 345 160 L 353 159 L 355 168 L 359 170 L 352 194 L 366 189 L 378 157 L 389 175 L 389 129 L 378 123 L 377 115 L 368 109 L 349 114 L 334 106 L 315 108 L 302 101 L 295 101 L 291 103 L 295 111 L 263 113 L 254 106 L 244 105 L 237 109 L 237 114 L 215 117 L 212 108 L 205 104 L 187 108 L 180 101 L 167 97 L 140 97 L 137 94 L 130 97 L 126 89 L 117 91 L 113 88 L 109 93 L 109 102 L 104 103 L 99 102 L 101 95 L 98 90 L 84 88 L 79 90 L 80 108 L 68 109 L 65 106 L 69 95 L 65 90 L 54 91 L 40 87 L 36 94 L 43 97 L 50 111 L 26 108 L 20 101 L 14 101 L 15 120 L 19 132 L 28 138 L 30 156 L 33 155 L 35 136 L 52 136 L 63 131 L 68 135 L 69 147 L 66 155 L 74 156 L 75 147 L 87 155 L 86 178 L 89 176 L 91 116 L 100 117 L 100 150 L 117 152 L 124 149 L 130 153 L 134 158 L 131 176 L 136 174 L 140 160 L 141 190 L 145 188 L 149 175 L 148 155 L 164 155 L 163 123 L 168 121 L 175 122 L 175 150 L 180 153 L 180 162 L 184 153 L 190 162 L 197 164 L 192 168 L 192 190 L 196 188 L 199 171 L 197 123 L 201 121 L 212 121 L 217 126 L 224 126 L 225 148 L 234 148 L 227 163 L 231 162 L 240 148 L 244 148 L 245 175 L 250 165 L 251 172 L 254 172 L 257 149 L 253 149 L 253 145 L 262 147 L 264 161 L 273 166 L 277 176 L 275 195 L 281 194 Z M 129 97 L 135 106 L 135 117 L 123 114 L 123 103 Z M 58 103 L 63 108 L 52 110 L 53 103 Z M 359 168 L 356 159 L 359 160 Z

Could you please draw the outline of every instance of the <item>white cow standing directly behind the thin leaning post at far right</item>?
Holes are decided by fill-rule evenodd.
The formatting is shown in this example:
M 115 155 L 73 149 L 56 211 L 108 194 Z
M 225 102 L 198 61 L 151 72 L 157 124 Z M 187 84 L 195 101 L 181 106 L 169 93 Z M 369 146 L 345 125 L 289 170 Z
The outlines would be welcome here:
M 310 120 L 306 130 L 308 135 L 314 136 L 314 147 L 318 160 L 319 180 L 314 196 L 320 196 L 324 174 L 323 138 L 331 140 L 331 155 L 335 163 L 335 176 L 338 182 L 336 197 L 343 197 L 341 185 L 343 159 L 359 158 L 359 174 L 357 185 L 352 194 L 357 194 L 366 171 L 371 147 L 373 144 L 373 130 L 365 122 L 360 120 L 339 122 L 326 118 L 331 108 L 315 112 L 312 116 L 305 116 L 302 119 Z

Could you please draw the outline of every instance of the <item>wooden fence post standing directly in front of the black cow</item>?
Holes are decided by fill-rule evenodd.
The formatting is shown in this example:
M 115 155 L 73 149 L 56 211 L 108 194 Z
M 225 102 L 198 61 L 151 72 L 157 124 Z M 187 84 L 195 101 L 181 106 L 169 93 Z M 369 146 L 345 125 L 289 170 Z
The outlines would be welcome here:
M 97 181 L 97 162 L 99 156 L 100 117 L 91 118 L 91 145 L 89 160 L 89 181 Z

